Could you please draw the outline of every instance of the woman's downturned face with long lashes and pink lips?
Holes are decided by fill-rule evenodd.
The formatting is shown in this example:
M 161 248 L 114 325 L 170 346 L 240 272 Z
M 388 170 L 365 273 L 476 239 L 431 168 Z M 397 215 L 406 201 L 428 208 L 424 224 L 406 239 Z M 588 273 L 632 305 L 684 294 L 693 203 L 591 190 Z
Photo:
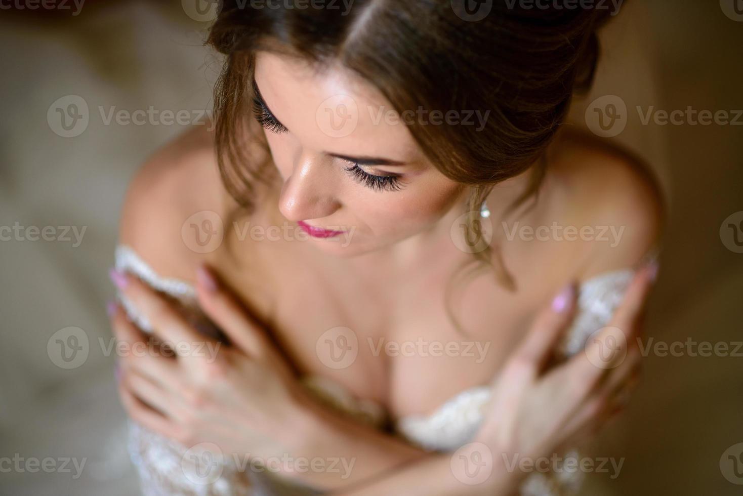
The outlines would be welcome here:
M 284 181 L 279 210 L 337 255 L 389 247 L 432 229 L 463 190 L 424 157 L 375 90 L 344 68 L 259 52 L 256 114 Z M 305 229 L 309 229 L 305 225 Z M 448 231 L 448 226 L 447 226 Z

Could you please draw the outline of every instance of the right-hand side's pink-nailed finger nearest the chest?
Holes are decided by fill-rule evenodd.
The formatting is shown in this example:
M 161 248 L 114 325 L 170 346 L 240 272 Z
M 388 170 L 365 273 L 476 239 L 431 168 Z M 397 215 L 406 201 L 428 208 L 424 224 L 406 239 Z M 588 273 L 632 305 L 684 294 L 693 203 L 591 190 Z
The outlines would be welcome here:
M 571 322 L 575 310 L 576 288 L 568 284 L 555 296 L 549 307 L 543 309 L 514 353 L 517 360 L 533 364 L 537 373 L 554 356 L 559 338 Z

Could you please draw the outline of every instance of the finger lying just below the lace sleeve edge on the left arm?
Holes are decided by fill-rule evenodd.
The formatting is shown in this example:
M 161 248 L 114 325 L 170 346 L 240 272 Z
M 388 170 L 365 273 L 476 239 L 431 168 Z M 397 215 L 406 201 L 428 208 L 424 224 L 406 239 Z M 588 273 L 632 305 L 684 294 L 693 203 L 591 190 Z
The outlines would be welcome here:
M 129 299 L 149 321 L 155 334 L 163 341 L 172 343 L 171 347 L 178 356 L 192 356 L 192 351 L 201 348 L 205 342 L 215 343 L 213 339 L 198 333 L 170 301 L 139 278 L 113 271 L 111 279 L 121 290 L 122 296 Z

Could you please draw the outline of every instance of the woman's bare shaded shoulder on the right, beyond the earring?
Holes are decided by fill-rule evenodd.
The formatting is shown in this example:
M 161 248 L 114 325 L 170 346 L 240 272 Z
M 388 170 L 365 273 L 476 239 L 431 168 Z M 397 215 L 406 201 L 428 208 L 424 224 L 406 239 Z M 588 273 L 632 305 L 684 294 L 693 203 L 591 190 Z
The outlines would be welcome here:
M 563 218 L 587 228 L 580 276 L 636 264 L 657 246 L 665 218 L 649 164 L 587 132 L 561 132 L 558 140 L 551 174 L 558 197 L 569 199 L 560 201 Z

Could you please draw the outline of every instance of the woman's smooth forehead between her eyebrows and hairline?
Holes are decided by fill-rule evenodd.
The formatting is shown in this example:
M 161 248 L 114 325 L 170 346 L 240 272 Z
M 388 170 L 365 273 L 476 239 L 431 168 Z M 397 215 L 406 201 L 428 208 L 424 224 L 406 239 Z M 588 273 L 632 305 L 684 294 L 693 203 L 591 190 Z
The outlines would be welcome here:
M 302 59 L 260 51 L 256 83 L 274 117 L 321 151 L 412 161 L 418 146 L 392 105 L 340 65 L 318 68 Z

